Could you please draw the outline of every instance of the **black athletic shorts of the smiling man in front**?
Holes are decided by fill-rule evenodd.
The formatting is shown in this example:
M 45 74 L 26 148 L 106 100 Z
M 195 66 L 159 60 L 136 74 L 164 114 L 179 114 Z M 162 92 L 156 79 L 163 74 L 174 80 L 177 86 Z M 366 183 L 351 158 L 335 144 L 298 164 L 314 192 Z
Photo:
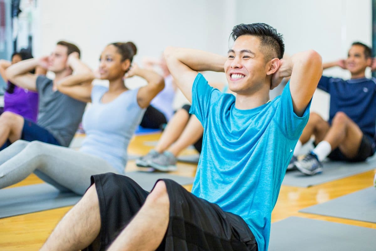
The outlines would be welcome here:
M 255 236 L 236 214 L 194 196 L 175 181 L 164 179 L 170 200 L 167 233 L 156 250 L 257 250 Z M 158 181 L 157 181 L 158 182 Z M 99 236 L 82 250 L 105 250 L 129 224 L 149 192 L 124 175 L 91 176 L 99 199 Z

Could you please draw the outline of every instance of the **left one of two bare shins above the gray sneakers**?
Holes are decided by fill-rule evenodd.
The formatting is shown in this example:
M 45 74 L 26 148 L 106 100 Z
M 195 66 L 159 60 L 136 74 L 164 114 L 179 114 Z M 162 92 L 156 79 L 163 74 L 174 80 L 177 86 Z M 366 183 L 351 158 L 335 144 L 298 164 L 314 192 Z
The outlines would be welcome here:
M 175 113 L 175 115 L 168 122 L 158 144 L 155 147 L 155 151 L 162 153 L 164 152 L 172 143 L 177 140 L 177 138 L 182 133 L 188 122 L 189 114 L 184 109 L 180 109 Z

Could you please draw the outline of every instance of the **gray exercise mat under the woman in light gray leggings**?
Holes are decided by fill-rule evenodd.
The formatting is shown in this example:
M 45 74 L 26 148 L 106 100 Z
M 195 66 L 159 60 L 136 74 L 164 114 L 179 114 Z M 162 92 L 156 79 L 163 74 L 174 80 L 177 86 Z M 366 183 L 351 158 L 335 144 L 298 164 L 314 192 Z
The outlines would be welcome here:
M 147 191 L 152 190 L 158 179 L 171 179 L 181 185 L 192 184 L 194 180 L 168 173 L 128 172 L 126 175 Z M 0 218 L 66 207 L 76 204 L 80 198 L 81 196 L 75 193 L 60 193 L 46 183 L 0 189 Z

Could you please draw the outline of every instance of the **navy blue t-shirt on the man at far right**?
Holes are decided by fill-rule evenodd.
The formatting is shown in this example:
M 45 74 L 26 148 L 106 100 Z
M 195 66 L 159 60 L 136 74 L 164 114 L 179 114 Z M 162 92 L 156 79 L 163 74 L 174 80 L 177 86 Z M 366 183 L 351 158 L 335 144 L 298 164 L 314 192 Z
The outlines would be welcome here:
M 376 79 L 329 78 L 322 76 L 317 88 L 330 94 L 329 123 L 334 115 L 343 111 L 362 130 L 375 140 Z

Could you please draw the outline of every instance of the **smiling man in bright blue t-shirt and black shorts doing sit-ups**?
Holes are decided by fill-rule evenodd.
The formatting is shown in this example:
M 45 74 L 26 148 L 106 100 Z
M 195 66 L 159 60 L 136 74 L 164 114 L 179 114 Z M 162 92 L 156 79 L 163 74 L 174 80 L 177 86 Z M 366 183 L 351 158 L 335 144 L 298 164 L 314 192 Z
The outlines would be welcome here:
M 172 47 L 164 53 L 204 128 L 192 193 L 168 179 L 149 194 L 123 175 L 92 176 L 41 250 L 90 243 L 87 250 L 267 250 L 271 211 L 308 121 L 321 56 L 309 50 L 282 59 L 282 35 L 267 24 L 240 24 L 232 38 L 227 58 Z M 210 87 L 199 71 L 224 71 L 236 96 Z M 270 101 L 269 90 L 289 76 Z

